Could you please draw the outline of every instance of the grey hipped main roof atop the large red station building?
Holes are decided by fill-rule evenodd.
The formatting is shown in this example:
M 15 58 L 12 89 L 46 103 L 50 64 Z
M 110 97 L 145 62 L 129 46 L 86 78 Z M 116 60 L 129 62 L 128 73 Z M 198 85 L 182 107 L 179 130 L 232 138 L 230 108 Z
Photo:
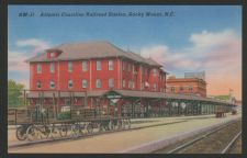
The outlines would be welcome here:
M 56 58 L 47 58 L 47 52 L 59 52 L 60 54 Z M 44 53 L 36 55 L 27 63 L 35 61 L 55 61 L 55 60 L 78 60 L 78 59 L 91 59 L 91 58 L 109 58 L 109 57 L 124 57 L 131 60 L 147 64 L 149 66 L 161 67 L 157 61 L 151 58 L 144 58 L 141 55 L 123 50 L 112 43 L 102 42 L 85 42 L 85 43 L 66 43 L 52 48 L 46 49 Z

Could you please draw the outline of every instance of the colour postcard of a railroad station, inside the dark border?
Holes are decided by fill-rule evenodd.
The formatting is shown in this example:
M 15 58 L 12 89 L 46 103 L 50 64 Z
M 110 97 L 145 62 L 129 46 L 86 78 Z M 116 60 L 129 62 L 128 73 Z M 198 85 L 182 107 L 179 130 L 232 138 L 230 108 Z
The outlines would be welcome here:
M 8 7 L 8 153 L 242 154 L 240 5 Z

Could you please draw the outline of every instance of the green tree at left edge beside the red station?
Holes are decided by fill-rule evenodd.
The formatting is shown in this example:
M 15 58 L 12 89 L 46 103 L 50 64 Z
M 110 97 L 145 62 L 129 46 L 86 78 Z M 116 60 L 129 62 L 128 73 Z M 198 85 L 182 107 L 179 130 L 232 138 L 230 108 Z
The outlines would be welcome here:
M 23 90 L 24 84 L 18 83 L 14 80 L 8 80 L 8 106 L 9 108 L 16 108 L 23 106 Z

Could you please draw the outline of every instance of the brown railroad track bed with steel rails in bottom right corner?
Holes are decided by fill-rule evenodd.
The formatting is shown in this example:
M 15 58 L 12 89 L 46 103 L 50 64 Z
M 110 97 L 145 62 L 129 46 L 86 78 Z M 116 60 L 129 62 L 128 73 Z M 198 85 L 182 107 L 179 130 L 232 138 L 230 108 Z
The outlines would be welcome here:
M 203 133 L 195 138 L 180 143 L 172 149 L 159 149 L 155 153 L 167 154 L 225 154 L 231 150 L 242 135 L 240 121 L 233 121 L 213 131 Z M 223 146 L 223 147 L 222 147 Z

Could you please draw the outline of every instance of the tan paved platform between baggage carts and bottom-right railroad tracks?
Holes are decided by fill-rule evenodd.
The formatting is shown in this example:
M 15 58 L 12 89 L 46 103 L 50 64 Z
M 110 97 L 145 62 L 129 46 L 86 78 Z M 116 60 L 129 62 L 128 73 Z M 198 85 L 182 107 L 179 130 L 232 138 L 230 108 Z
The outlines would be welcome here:
M 149 128 L 143 128 L 137 131 L 128 131 L 121 133 L 113 133 L 108 135 L 99 135 L 90 138 L 69 140 L 69 142 L 59 142 L 59 143 L 50 143 L 43 145 L 35 145 L 23 148 L 11 148 L 9 153 L 74 153 L 74 154 L 86 154 L 86 153 L 121 153 L 123 150 L 127 150 L 130 148 L 135 148 L 142 144 L 146 144 L 149 142 L 164 139 L 171 137 L 173 135 L 190 132 L 195 128 L 205 127 L 209 125 L 213 125 L 220 122 L 224 122 L 227 120 L 240 117 L 238 115 L 227 115 L 224 119 L 215 119 L 213 115 L 209 115 L 207 119 L 203 119 L 205 116 L 190 116 L 190 117 L 164 117 L 164 119 L 147 119 L 148 123 L 139 123 L 133 124 L 133 126 L 143 126 L 150 124 L 160 124 L 160 123 L 169 123 L 177 122 L 180 120 L 188 120 L 188 122 L 170 124 L 164 126 L 155 126 Z M 134 120 L 134 122 L 138 122 L 139 120 Z M 14 138 L 14 131 L 9 129 L 9 145 L 15 144 L 18 140 Z

